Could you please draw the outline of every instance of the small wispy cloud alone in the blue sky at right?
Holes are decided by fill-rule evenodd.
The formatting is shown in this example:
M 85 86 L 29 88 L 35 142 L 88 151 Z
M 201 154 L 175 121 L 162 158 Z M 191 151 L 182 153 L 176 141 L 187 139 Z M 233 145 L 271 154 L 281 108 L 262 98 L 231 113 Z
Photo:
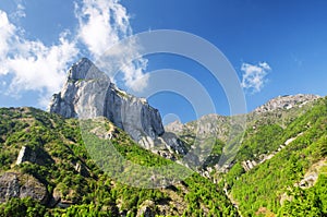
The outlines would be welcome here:
M 259 62 L 258 64 L 243 63 L 241 67 L 243 71 L 242 87 L 258 93 L 266 83 L 266 76 L 271 71 L 267 62 Z

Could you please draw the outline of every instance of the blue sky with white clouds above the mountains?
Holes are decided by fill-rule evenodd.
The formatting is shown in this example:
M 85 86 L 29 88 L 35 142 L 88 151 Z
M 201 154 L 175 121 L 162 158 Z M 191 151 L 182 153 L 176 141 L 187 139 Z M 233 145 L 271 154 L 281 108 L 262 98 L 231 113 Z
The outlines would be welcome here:
M 326 9 L 323 0 L 1 0 L 0 107 L 45 109 L 81 57 L 95 60 L 121 38 L 162 28 L 219 48 L 239 75 L 249 110 L 278 95 L 326 96 Z M 223 91 L 203 67 L 171 55 L 144 60 L 146 65 L 122 73 L 122 88 L 133 88 L 131 77 L 147 71 L 177 69 L 208 89 L 218 113 L 229 113 Z M 157 94 L 149 103 L 162 117 L 195 118 L 182 96 Z

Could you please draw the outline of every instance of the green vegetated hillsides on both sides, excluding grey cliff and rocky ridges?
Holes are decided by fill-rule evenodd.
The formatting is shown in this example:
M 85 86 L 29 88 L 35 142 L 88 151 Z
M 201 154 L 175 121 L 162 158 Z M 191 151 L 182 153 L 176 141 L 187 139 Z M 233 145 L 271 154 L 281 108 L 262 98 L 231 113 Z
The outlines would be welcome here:
M 34 108 L 2 108 L 0 117 L 0 216 L 327 216 L 327 98 L 250 113 L 240 152 L 227 171 L 215 170 L 225 145 L 216 140 L 204 166 L 213 169 L 206 178 L 195 172 L 158 189 L 120 183 L 90 158 L 110 155 L 104 147 L 111 144 L 136 165 L 172 164 L 107 119 L 81 125 Z M 99 123 L 110 135 L 95 130 Z M 88 133 L 82 136 L 81 129 Z M 94 146 L 85 141 L 95 141 Z M 100 165 L 116 160 L 108 157 Z M 126 177 L 132 169 L 120 173 Z

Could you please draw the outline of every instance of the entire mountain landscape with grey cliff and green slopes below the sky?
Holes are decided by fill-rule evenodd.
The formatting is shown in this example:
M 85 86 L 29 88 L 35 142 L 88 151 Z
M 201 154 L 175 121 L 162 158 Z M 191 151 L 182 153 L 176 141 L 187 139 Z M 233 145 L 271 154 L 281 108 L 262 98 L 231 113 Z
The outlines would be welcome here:
M 242 114 L 245 129 L 219 114 L 164 128 L 157 109 L 84 58 L 49 112 L 1 108 L 0 117 L 0 216 L 327 216 L 326 97 L 279 96 Z M 101 170 L 117 158 L 92 158 L 108 142 L 134 164 L 196 172 L 159 189 L 129 186 Z

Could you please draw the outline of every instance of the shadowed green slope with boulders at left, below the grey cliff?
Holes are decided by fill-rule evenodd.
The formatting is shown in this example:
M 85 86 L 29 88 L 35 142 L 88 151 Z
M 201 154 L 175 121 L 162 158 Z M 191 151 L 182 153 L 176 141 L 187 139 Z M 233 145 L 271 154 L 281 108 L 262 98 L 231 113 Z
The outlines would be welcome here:
M 111 143 L 135 164 L 171 164 L 119 129 Z M 222 190 L 197 173 L 161 189 L 112 180 L 89 157 L 74 119 L 34 108 L 2 108 L 0 147 L 0 216 L 237 216 Z M 16 164 L 22 147 L 29 156 Z

